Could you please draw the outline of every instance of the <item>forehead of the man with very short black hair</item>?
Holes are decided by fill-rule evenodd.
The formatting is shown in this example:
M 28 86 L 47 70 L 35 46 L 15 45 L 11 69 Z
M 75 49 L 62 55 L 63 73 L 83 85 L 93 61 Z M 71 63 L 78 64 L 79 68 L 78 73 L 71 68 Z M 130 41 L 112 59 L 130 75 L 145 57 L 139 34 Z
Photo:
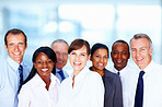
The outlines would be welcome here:
M 113 46 L 113 50 L 128 50 L 128 46 L 125 43 L 116 43 Z

